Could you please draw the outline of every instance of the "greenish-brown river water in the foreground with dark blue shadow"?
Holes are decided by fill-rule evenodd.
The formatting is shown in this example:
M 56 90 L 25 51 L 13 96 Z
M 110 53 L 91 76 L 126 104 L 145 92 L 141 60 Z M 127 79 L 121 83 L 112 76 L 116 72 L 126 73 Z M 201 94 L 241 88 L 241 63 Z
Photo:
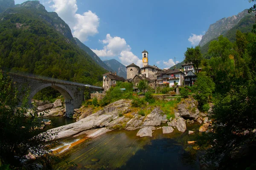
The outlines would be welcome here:
M 188 126 L 185 133 L 175 129 L 172 133 L 163 134 L 162 129 L 158 129 L 154 130 L 152 137 L 142 138 L 136 136 L 138 130 L 114 130 L 94 139 L 82 136 L 65 139 L 63 144 L 81 138 L 84 141 L 65 149 L 59 155 L 63 161 L 56 165 L 56 169 L 199 170 L 199 156 L 203 151 L 194 150 L 192 147 L 195 145 L 187 144 L 198 136 L 198 129 L 198 124 Z M 195 133 L 188 135 L 188 130 Z

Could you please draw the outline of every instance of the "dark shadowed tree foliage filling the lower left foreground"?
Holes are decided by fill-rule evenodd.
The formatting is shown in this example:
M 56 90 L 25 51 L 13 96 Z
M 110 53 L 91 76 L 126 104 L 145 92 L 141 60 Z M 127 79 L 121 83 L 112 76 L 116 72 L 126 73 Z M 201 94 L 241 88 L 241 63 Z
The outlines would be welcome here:
M 0 71 L 0 165 L 9 164 L 12 169 L 35 169 L 36 165 L 27 160 L 30 153 L 50 169 L 50 160 L 53 156 L 49 146 L 54 142 L 47 141 L 56 133 L 38 135 L 42 132 L 39 129 L 42 122 L 35 111 L 32 112 L 32 118 L 25 116 L 29 112 L 26 105 L 28 92 L 22 93 L 26 95 L 22 105 L 17 107 L 18 91 L 11 78 Z

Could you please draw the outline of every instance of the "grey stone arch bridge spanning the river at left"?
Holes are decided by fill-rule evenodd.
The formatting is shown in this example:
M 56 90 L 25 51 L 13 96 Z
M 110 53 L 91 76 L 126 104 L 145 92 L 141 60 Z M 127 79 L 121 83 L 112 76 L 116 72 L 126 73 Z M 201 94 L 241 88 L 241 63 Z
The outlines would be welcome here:
M 6 72 L 6 71 L 3 71 Z M 66 116 L 72 117 L 73 111 L 79 108 L 84 101 L 84 91 L 102 91 L 101 87 L 85 85 L 77 82 L 70 82 L 61 79 L 54 79 L 50 77 L 43 77 L 34 74 L 27 73 L 7 73 L 12 77 L 12 81 L 15 83 L 19 92 L 24 91 L 24 89 L 29 89 L 28 102 L 31 106 L 31 100 L 36 93 L 44 88 L 52 87 L 60 92 L 64 96 Z M 20 94 L 19 99 L 23 98 L 24 94 Z

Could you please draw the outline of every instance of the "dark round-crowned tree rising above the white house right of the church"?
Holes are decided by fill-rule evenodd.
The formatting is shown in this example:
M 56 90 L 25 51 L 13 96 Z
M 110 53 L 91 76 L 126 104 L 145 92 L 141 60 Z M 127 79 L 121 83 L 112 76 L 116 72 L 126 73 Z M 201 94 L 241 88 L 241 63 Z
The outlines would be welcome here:
M 195 48 L 187 48 L 187 51 L 184 53 L 185 56 L 185 63 L 192 62 L 193 65 L 197 68 L 201 63 L 201 60 L 203 59 L 203 55 L 200 50 L 200 46 L 195 46 Z

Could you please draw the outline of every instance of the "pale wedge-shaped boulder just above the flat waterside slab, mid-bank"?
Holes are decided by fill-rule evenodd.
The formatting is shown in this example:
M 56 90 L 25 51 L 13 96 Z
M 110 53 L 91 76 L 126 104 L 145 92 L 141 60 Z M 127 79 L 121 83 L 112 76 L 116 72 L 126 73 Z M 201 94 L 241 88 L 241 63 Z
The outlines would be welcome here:
M 160 114 L 163 111 L 160 108 L 154 108 L 154 110 L 148 114 L 144 120 L 144 126 L 159 126 L 163 121 L 163 116 Z

